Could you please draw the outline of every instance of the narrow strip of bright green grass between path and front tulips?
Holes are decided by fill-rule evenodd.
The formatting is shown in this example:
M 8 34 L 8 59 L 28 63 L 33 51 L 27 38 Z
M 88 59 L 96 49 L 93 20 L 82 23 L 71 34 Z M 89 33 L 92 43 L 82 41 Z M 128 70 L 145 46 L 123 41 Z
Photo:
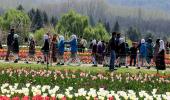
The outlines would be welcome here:
M 14 64 L 14 63 L 0 63 L 0 68 L 25 68 L 25 69 L 47 69 L 46 65 L 41 64 Z M 87 67 L 87 66 L 49 66 L 49 70 L 72 70 L 72 71 L 84 71 L 84 72 L 95 72 L 95 73 L 108 73 L 108 68 L 105 67 Z M 146 73 L 146 74 L 156 74 L 156 69 L 136 69 L 136 68 L 119 68 L 116 73 Z M 166 75 L 170 75 L 170 70 L 160 71 L 161 74 L 165 72 Z

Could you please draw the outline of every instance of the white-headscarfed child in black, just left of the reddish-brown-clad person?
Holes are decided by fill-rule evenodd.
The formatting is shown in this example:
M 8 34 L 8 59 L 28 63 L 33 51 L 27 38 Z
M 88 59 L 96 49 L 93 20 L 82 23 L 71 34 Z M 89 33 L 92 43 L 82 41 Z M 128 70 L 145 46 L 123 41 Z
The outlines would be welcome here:
M 43 47 L 41 48 L 41 51 L 43 52 L 43 55 L 44 55 L 44 61 L 42 61 L 42 64 L 44 64 L 44 62 L 47 61 L 47 64 L 49 63 L 48 62 L 48 58 L 49 58 L 49 37 L 48 35 L 44 35 L 44 45 Z

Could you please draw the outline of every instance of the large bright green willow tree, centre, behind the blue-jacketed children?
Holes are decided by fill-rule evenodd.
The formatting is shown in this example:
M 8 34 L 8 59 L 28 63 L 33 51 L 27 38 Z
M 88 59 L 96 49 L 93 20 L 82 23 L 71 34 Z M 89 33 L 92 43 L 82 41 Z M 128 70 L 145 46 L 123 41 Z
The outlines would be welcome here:
M 68 33 L 68 35 L 76 34 L 80 36 L 88 25 L 87 16 L 82 16 L 74 11 L 70 11 L 62 16 L 56 29 L 58 33 Z

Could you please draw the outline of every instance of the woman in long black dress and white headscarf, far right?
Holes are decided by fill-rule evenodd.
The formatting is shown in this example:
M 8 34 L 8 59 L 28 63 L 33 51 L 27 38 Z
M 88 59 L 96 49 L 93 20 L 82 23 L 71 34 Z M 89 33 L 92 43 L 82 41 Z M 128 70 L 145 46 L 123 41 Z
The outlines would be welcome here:
M 156 69 L 157 72 L 159 70 L 165 70 L 165 44 L 163 40 L 159 41 L 159 50 L 158 50 L 158 55 L 156 56 Z

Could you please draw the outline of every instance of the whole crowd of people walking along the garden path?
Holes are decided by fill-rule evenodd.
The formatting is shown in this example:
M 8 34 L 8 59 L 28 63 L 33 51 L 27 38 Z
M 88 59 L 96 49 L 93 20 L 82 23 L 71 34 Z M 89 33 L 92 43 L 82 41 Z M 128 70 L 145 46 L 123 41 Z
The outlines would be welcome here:
M 15 57 L 14 63 L 19 60 L 19 40 L 18 35 L 15 34 L 15 30 L 11 29 L 7 37 L 7 54 L 6 61 L 9 61 L 9 55 L 11 51 Z M 51 35 L 50 32 L 43 36 L 43 46 L 41 51 L 43 53 L 43 59 L 37 60 L 37 63 L 53 63 L 57 65 L 70 65 L 72 61 L 76 61 L 77 65 L 81 65 L 81 61 L 78 56 L 78 52 L 85 52 L 88 42 L 82 36 L 78 39 L 75 34 L 71 35 L 70 40 L 66 41 L 62 35 Z M 64 62 L 65 45 L 69 45 L 71 55 L 67 62 Z M 28 39 L 28 56 L 25 59 L 25 63 L 29 63 L 29 58 L 35 58 L 36 53 L 36 41 L 33 35 Z M 1 46 L 2 47 L 2 46 Z M 80 48 L 80 49 L 79 49 Z M 113 32 L 109 41 L 97 41 L 93 39 L 89 46 L 89 52 L 91 52 L 93 66 L 97 67 L 98 64 L 102 64 L 104 67 L 109 67 L 110 71 L 117 70 L 115 67 L 136 66 L 150 68 L 152 61 L 155 62 L 157 70 L 165 70 L 165 51 L 166 47 L 164 41 L 157 39 L 156 43 L 151 38 L 145 40 L 141 39 L 139 42 L 133 42 L 129 47 L 125 38 L 121 36 L 121 33 Z M 130 57 L 130 63 L 127 58 Z M 37 59 L 37 58 L 36 58 Z

